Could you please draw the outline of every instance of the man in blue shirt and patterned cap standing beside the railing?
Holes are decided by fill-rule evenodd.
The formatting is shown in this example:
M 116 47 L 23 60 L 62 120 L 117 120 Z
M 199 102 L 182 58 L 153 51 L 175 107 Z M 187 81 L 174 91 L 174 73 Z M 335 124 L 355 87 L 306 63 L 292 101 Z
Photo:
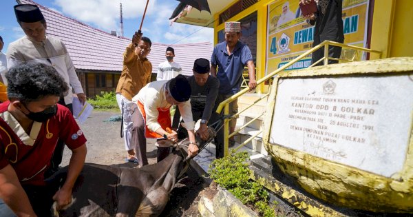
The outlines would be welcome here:
M 216 104 L 218 105 L 233 94 L 240 92 L 242 84 L 242 71 L 248 67 L 248 87 L 253 90 L 257 86 L 255 81 L 255 65 L 253 55 L 248 46 L 240 41 L 241 23 L 225 23 L 225 41 L 218 43 L 213 49 L 211 56 L 211 75 L 220 80 L 220 90 Z M 218 72 L 217 72 L 217 65 Z M 229 104 L 229 114 L 236 114 L 238 110 L 237 101 Z M 230 134 L 235 130 L 237 120 L 231 119 L 229 123 Z M 230 138 L 230 145 L 235 141 Z

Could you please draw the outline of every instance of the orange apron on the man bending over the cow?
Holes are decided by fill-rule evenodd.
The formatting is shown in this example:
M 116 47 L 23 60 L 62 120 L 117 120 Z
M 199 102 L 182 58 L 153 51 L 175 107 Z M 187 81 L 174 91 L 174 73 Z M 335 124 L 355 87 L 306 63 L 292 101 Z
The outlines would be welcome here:
M 163 138 L 160 134 L 157 134 L 156 132 L 153 132 L 148 129 L 147 124 L 146 124 L 146 112 L 143 106 L 143 103 L 138 101 L 138 108 L 140 111 L 140 114 L 142 114 L 143 121 L 145 121 L 145 137 L 146 138 Z M 160 127 L 162 127 L 163 130 L 167 129 L 167 127 L 171 128 L 172 127 L 172 121 L 171 121 L 171 113 L 169 112 L 169 108 L 160 108 L 158 107 L 158 123 L 160 124 Z

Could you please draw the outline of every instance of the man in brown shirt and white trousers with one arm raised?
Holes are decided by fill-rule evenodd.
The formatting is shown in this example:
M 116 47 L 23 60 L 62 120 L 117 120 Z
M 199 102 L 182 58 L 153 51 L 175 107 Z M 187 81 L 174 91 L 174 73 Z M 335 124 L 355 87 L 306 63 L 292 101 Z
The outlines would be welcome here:
M 132 97 L 151 81 L 152 64 L 147 59 L 151 45 L 150 39 L 142 37 L 142 33 L 135 32 L 123 54 L 123 70 L 116 87 L 116 101 L 123 118 L 121 136 L 125 138 L 126 160 L 134 163 L 138 163 L 138 160 L 135 156 L 135 145 L 131 144 L 131 131 L 134 129 L 131 115 L 137 107 L 132 103 Z

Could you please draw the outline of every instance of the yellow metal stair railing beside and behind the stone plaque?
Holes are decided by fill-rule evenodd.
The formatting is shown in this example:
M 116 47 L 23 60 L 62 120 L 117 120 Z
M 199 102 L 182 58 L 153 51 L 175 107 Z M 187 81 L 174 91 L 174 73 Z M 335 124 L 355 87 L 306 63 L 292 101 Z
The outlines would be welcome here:
M 304 59 L 308 54 L 311 54 L 311 53 L 315 52 L 316 50 L 321 49 L 322 47 L 324 47 L 324 56 L 321 59 L 319 59 L 319 61 L 317 61 L 317 62 L 313 63 L 312 65 L 310 65 L 309 68 L 317 65 L 317 63 L 320 63 L 321 61 L 324 62 L 324 65 L 328 65 L 328 60 L 336 60 L 336 61 L 343 61 L 343 62 L 354 61 L 354 57 L 352 59 L 338 59 L 338 58 L 329 57 L 328 56 L 328 48 L 329 48 L 330 45 L 334 45 L 334 46 L 341 47 L 341 48 L 350 48 L 350 49 L 353 49 L 353 50 L 356 50 L 356 51 L 361 51 L 361 52 L 375 53 L 375 54 L 379 55 L 379 59 L 381 58 L 381 52 L 377 51 L 377 50 L 371 50 L 371 49 L 368 49 L 368 48 L 360 48 L 360 47 L 357 47 L 357 46 L 354 46 L 354 45 L 346 45 L 346 44 L 338 43 L 338 42 L 335 42 L 335 41 L 323 41 L 319 45 L 316 45 L 314 48 L 311 48 L 310 50 L 307 50 L 303 54 L 297 56 L 297 58 L 293 59 L 292 61 L 286 63 L 285 65 L 282 65 L 282 67 L 278 68 L 274 72 L 271 72 L 270 74 L 267 74 L 266 76 L 264 76 L 262 79 L 258 80 L 257 81 L 257 87 L 258 87 L 258 85 L 261 85 L 265 81 L 268 81 L 268 80 L 272 79 L 273 76 L 275 76 L 279 72 L 282 72 L 282 71 L 286 70 L 288 67 L 290 67 L 294 63 L 297 63 L 301 59 Z M 237 129 L 233 133 L 229 134 L 229 121 L 231 119 L 236 118 L 237 116 L 239 116 L 242 112 L 246 111 L 248 108 L 250 108 L 253 105 L 257 104 L 258 102 L 262 101 L 262 99 L 266 99 L 268 97 L 268 95 L 270 94 L 270 92 L 271 92 L 271 90 L 268 90 L 267 94 L 264 94 L 264 96 L 260 97 L 260 99 L 257 99 L 256 101 L 254 101 L 254 103 L 252 103 L 251 105 L 248 105 L 248 107 L 244 108 L 244 110 L 242 110 L 241 112 L 237 112 L 237 114 L 233 114 L 232 116 L 229 116 L 229 103 L 231 103 L 235 99 L 238 99 L 240 96 L 246 94 L 249 91 L 250 90 L 249 90 L 248 87 L 242 89 L 240 92 L 237 92 L 237 94 L 234 94 L 233 96 L 229 97 L 225 101 L 222 101 L 222 103 L 220 103 L 220 105 L 218 105 L 218 108 L 216 110 L 216 112 L 218 114 L 220 114 L 222 112 L 222 110 L 224 110 L 224 114 L 223 114 L 224 115 L 224 156 L 227 156 L 229 154 L 229 152 L 228 152 L 229 138 L 231 136 L 234 136 L 238 132 L 240 132 L 240 130 L 244 129 L 245 127 L 247 127 L 251 123 L 253 123 L 253 121 L 257 120 L 257 118 L 260 118 L 261 116 L 264 115 L 264 113 L 262 113 L 259 116 L 256 116 L 251 121 L 248 121 L 248 123 L 245 123 L 239 129 Z M 257 137 L 261 133 L 262 133 L 262 130 L 258 130 L 258 132 L 256 134 L 254 134 L 253 136 L 248 138 L 246 141 L 241 143 L 235 149 L 235 151 L 237 151 L 238 149 L 240 149 L 241 147 L 243 147 L 244 145 L 246 145 L 247 143 L 252 141 L 255 137 Z

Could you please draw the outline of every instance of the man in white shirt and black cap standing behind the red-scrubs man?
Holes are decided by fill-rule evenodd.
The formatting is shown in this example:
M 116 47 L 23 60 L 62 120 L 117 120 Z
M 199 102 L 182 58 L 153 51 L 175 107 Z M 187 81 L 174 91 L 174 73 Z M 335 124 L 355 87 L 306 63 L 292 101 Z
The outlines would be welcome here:
M 68 94 L 62 97 L 59 104 L 65 105 L 70 112 L 73 112 L 72 88 L 81 103 L 85 103 L 86 96 L 83 93 L 81 82 L 74 70 L 72 59 L 70 59 L 65 44 L 60 39 L 46 35 L 46 21 L 36 5 L 14 6 L 14 13 L 25 36 L 10 43 L 7 52 L 8 68 L 13 68 L 21 63 L 52 65 L 70 88 Z M 59 168 L 63 148 L 63 141 L 59 141 L 52 158 L 51 172 Z

